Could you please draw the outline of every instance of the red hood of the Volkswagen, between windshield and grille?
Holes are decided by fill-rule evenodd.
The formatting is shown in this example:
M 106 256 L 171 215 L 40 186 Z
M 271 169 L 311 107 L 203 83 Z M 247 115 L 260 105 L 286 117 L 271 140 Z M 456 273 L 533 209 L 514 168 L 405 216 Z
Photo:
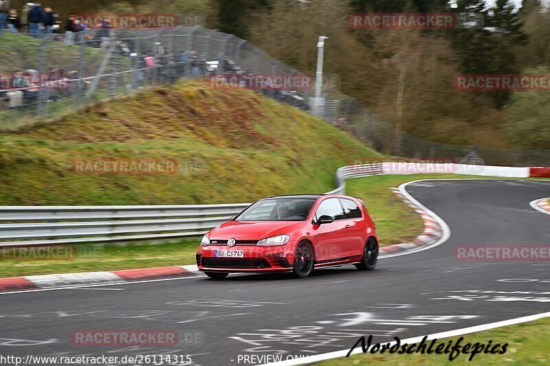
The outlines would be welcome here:
M 288 234 L 303 227 L 305 221 L 228 221 L 210 230 L 211 240 L 261 240 L 281 234 Z M 292 238 L 291 238 L 292 240 Z

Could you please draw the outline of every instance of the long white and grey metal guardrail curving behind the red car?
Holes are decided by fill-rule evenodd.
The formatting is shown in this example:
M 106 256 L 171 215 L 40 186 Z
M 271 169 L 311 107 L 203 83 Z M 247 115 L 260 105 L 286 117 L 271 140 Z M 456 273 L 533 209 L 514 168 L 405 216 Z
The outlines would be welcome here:
M 449 166 L 440 164 L 444 172 Z M 428 165 L 417 164 L 416 168 Z M 430 165 L 438 168 L 438 165 Z M 399 166 L 397 166 L 399 168 Z M 336 171 L 336 189 L 346 179 L 378 174 L 413 174 L 393 163 L 348 165 Z M 454 174 L 529 176 L 529 168 L 455 164 Z M 229 220 L 249 203 L 167 206 L 0 206 L 0 247 L 42 244 L 126 242 L 199 236 Z

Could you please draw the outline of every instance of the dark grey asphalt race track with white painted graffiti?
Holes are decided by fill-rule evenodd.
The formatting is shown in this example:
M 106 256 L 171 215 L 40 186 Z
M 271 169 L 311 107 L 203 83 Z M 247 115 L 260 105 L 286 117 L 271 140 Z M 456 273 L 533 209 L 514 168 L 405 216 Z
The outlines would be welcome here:
M 243 355 L 310 356 L 347 350 L 361 335 L 392 341 L 550 311 L 550 262 L 454 259 L 457 244 L 550 244 L 550 216 L 529 206 L 550 196 L 550 181 L 421 181 L 407 191 L 447 222 L 447 242 L 370 272 L 343 266 L 309 279 L 201 276 L 0 295 L 0 354 L 189 354 L 192 365 L 250 365 L 260 362 Z M 76 330 L 129 329 L 177 330 L 180 345 L 72 344 Z

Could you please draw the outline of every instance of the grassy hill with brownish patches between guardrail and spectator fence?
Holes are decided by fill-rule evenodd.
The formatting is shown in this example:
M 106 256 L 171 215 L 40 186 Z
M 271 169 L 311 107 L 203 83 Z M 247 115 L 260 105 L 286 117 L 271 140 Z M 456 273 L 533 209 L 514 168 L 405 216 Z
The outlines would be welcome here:
M 0 205 L 235 203 L 333 189 L 377 153 L 243 89 L 180 82 L 0 135 Z M 82 174 L 74 159 L 176 159 L 177 174 Z

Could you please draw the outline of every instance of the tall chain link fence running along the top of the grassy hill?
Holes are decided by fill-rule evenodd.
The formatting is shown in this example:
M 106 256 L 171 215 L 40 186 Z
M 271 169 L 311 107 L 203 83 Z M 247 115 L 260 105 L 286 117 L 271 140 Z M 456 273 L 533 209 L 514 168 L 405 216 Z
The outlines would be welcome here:
M 296 69 L 247 41 L 204 27 L 92 29 L 76 34 L 14 34 L 0 30 L 0 130 L 46 121 L 119 95 L 182 78 L 231 73 L 294 76 Z M 279 102 L 311 112 L 313 91 L 265 87 Z M 325 85 L 320 117 L 387 155 L 452 158 L 461 163 L 550 166 L 550 150 L 509 150 L 438 144 L 384 122 L 357 100 Z

